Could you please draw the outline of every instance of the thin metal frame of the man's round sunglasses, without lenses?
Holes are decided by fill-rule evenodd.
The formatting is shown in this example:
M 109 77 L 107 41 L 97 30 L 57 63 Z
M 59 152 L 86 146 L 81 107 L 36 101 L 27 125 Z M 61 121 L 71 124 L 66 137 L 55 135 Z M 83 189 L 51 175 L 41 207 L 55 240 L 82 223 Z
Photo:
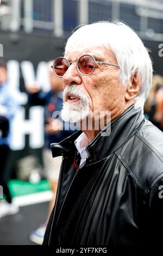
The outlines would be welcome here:
M 93 70 L 89 74 L 83 74 L 82 72 L 80 72 L 79 67 L 78 67 L 79 59 L 81 59 L 84 56 L 90 56 L 93 59 L 93 62 L 94 62 L 94 68 L 93 68 Z M 89 76 L 89 75 L 91 75 L 93 73 L 93 71 L 95 70 L 95 68 L 96 68 L 96 64 L 105 64 L 105 65 L 111 65 L 111 66 L 118 66 L 118 67 L 120 67 L 118 64 L 114 64 L 114 63 L 111 63 L 111 62 L 102 62 L 102 61 L 99 61 L 99 60 L 95 60 L 95 57 L 93 57 L 91 54 L 83 54 L 82 56 L 80 56 L 78 58 L 78 60 L 73 60 L 72 62 L 69 62 L 65 57 L 58 57 L 57 59 L 60 59 L 60 58 L 65 59 L 66 62 L 68 63 L 67 70 L 68 70 L 68 68 L 70 67 L 70 65 L 72 63 L 76 63 L 77 64 L 77 70 L 78 70 L 79 74 L 82 75 L 82 76 Z M 53 73 L 54 73 L 55 76 L 63 77 L 66 74 L 67 70 L 66 70 L 65 74 L 62 75 L 62 76 L 57 75 L 55 73 L 55 71 L 54 71 L 54 63 L 56 62 L 57 59 L 54 59 L 53 66 L 51 66 L 51 68 L 53 69 Z

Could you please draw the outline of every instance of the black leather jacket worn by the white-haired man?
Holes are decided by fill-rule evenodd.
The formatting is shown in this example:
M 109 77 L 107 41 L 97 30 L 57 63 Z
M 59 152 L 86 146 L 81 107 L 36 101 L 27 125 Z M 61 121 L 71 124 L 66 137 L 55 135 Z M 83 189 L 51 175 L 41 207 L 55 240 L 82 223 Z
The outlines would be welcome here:
M 163 133 L 130 106 L 87 145 L 87 159 L 73 167 L 74 140 L 59 144 L 63 155 L 57 200 L 43 245 L 141 245 L 162 242 Z

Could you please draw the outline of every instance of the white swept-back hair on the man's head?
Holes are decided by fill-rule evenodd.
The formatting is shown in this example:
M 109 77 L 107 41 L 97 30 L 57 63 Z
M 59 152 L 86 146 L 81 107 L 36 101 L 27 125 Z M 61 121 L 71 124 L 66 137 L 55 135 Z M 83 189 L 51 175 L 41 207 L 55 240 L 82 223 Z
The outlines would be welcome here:
M 120 66 L 120 81 L 125 84 L 137 72 L 141 88 L 135 98 L 135 108 L 142 108 L 152 86 L 152 60 L 148 49 L 129 26 L 120 21 L 101 21 L 79 27 L 67 40 L 65 52 L 80 46 L 104 46 L 111 50 Z

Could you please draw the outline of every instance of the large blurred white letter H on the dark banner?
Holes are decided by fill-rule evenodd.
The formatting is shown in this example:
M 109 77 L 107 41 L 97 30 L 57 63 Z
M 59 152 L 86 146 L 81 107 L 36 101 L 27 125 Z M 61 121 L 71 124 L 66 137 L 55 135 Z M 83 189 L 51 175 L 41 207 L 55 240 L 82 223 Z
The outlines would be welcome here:
M 21 107 L 11 123 L 11 149 L 23 149 L 26 134 L 29 134 L 30 148 L 42 148 L 44 144 L 43 130 L 43 107 L 30 107 L 29 120 L 25 120 L 25 109 Z

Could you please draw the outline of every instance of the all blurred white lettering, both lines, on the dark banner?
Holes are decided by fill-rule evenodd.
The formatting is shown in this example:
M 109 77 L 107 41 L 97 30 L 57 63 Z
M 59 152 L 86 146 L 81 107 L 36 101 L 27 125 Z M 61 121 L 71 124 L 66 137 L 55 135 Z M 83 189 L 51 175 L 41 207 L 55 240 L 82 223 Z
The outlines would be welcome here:
M 20 67 L 25 84 L 32 86 L 36 84 L 44 92 L 50 88 L 48 67 L 46 62 L 40 62 L 36 69 L 36 74 L 32 62 L 23 61 L 21 64 L 17 60 L 9 60 L 7 63 L 8 80 L 10 86 L 20 88 Z M 28 102 L 27 93 L 18 93 L 17 100 L 21 105 Z M 26 146 L 25 135 L 29 134 L 29 146 L 31 148 L 41 148 L 44 144 L 44 115 L 43 107 L 36 106 L 29 108 L 29 120 L 25 119 L 25 109 L 22 106 L 11 122 L 11 149 L 21 150 Z

